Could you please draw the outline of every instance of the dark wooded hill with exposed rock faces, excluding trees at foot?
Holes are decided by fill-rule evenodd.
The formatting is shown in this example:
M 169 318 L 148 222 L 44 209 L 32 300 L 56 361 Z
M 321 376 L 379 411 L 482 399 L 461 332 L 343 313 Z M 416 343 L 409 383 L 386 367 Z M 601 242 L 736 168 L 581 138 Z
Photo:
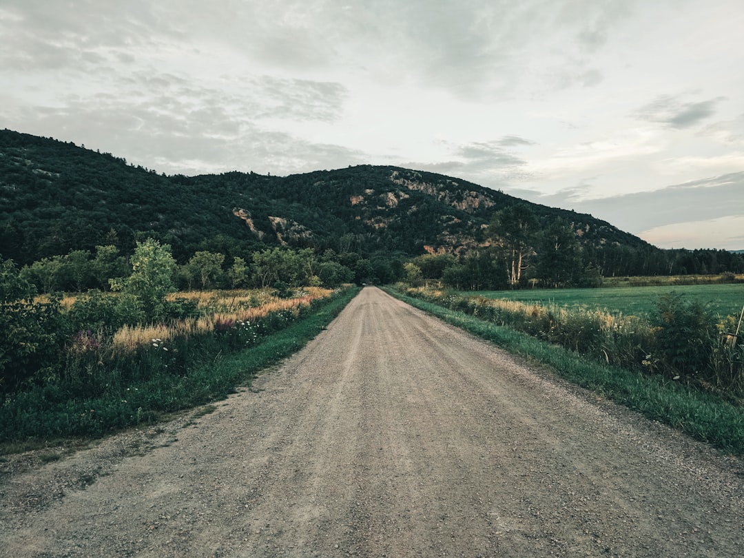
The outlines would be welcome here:
M 20 265 L 73 249 L 155 237 L 184 262 L 266 246 L 417 256 L 487 246 L 494 214 L 526 206 L 540 228 L 571 226 L 603 275 L 668 273 L 667 251 L 595 219 L 461 179 L 362 165 L 286 177 L 165 176 L 110 153 L 0 131 L 0 254 Z

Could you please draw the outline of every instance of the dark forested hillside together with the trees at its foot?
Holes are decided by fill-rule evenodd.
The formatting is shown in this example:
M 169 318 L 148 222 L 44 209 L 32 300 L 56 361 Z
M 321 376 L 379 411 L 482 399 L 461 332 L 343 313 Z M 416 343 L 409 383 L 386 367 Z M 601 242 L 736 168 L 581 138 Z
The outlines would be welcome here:
M 0 131 L 0 257 L 39 292 L 109 289 L 147 239 L 169 247 L 181 289 L 417 278 L 514 289 L 744 272 L 740 253 L 662 250 L 591 215 L 434 173 L 165 176 Z M 283 271 L 266 275 L 266 265 Z

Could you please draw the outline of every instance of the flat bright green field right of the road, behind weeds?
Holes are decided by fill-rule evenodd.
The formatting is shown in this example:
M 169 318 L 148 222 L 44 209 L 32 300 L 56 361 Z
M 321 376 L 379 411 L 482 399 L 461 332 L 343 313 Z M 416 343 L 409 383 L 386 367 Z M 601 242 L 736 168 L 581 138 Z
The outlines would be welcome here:
M 501 298 L 525 304 L 557 304 L 559 307 L 581 307 L 605 310 L 611 314 L 648 315 L 661 295 L 673 292 L 690 301 L 700 301 L 724 317 L 739 316 L 744 305 L 744 284 L 633 286 L 600 289 L 524 289 L 519 291 L 461 292 L 463 296 Z

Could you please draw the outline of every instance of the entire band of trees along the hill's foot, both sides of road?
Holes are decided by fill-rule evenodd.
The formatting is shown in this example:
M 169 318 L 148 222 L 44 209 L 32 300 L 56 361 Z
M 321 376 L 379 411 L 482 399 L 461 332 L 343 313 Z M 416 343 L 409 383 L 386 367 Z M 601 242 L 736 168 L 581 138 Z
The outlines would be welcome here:
M 231 243 L 228 254 L 197 250 L 184 263 L 177 263 L 171 248 L 153 238 L 137 241 L 137 249 L 153 246 L 167 250 L 163 265 L 172 272 L 176 289 L 263 288 L 275 286 L 326 286 L 341 283 L 394 283 L 405 280 L 420 284 L 439 280 L 462 290 L 519 289 L 525 286 L 561 288 L 600 286 L 603 277 L 634 275 L 620 273 L 622 261 L 631 264 L 637 251 L 606 246 L 598 252 L 581 242 L 573 223 L 555 218 L 545 225 L 527 206 L 496 211 L 487 225 L 484 243 L 464 254 L 405 252 L 360 253 L 358 237 L 344 234 L 337 239 L 340 251 L 326 248 L 289 248 L 248 245 L 243 251 Z M 260 246 L 260 245 L 259 245 Z M 24 280 L 39 292 L 88 289 L 109 290 L 131 273 L 134 254 L 122 253 L 113 245 L 94 251 L 72 250 L 68 254 L 43 257 L 20 269 Z M 696 275 L 744 273 L 744 256 L 716 250 L 664 251 L 655 258 L 654 269 L 635 275 Z M 661 272 L 663 266 L 665 273 Z

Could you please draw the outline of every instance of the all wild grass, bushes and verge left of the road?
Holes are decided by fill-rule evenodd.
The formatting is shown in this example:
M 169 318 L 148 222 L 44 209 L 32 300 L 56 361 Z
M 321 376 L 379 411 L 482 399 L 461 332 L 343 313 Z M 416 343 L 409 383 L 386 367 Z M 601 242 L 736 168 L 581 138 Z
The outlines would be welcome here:
M 350 286 L 173 292 L 167 246 L 140 243 L 116 292 L 36 295 L 0 262 L 0 442 L 95 437 L 225 397 L 312 339 Z

